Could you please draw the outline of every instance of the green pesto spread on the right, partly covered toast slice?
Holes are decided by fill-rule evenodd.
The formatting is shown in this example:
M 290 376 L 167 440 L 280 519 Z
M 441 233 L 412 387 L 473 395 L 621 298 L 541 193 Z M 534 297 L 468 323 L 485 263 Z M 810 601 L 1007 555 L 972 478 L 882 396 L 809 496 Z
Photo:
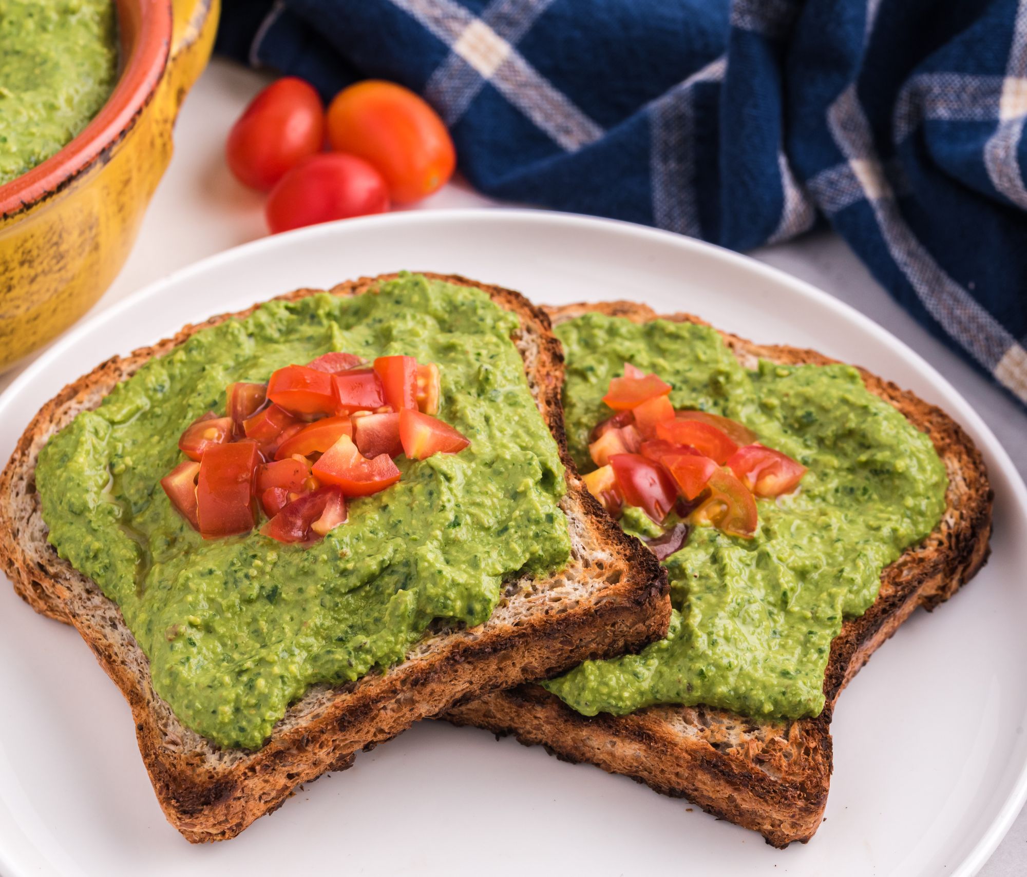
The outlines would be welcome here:
M 945 468 L 930 440 L 868 392 L 848 366 L 744 369 L 712 329 L 642 326 L 587 314 L 557 328 L 567 357 L 564 404 L 582 470 L 588 432 L 624 361 L 655 372 L 675 408 L 725 415 L 807 466 L 799 489 L 757 500 L 754 538 L 695 528 L 667 559 L 668 637 L 544 683 L 580 713 L 624 715 L 655 703 L 723 708 L 754 718 L 815 716 L 842 620 L 873 603 L 881 570 L 926 536 L 945 507 Z M 659 532 L 637 509 L 629 532 Z

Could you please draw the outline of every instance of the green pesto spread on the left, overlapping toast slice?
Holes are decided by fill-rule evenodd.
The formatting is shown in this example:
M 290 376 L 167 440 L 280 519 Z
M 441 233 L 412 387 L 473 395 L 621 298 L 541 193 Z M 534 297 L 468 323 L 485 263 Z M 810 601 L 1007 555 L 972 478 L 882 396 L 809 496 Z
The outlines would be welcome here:
M 482 623 L 504 577 L 567 563 L 564 469 L 518 326 L 480 290 L 420 276 L 270 302 L 150 360 L 50 440 L 36 470 L 49 541 L 121 607 L 184 724 L 260 747 L 310 685 L 402 660 L 435 618 Z M 224 411 L 227 384 L 329 350 L 436 363 L 440 417 L 470 447 L 400 458 L 400 483 L 351 500 L 312 546 L 256 531 L 204 541 L 158 484 L 178 435 Z

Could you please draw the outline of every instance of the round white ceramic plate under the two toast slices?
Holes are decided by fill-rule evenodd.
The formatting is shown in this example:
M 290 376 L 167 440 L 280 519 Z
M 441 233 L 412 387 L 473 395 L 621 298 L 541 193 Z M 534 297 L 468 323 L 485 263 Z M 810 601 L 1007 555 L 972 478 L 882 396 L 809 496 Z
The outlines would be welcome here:
M 536 302 L 631 298 L 816 349 L 948 410 L 995 491 L 988 566 L 918 612 L 841 698 L 827 819 L 781 851 L 683 801 L 539 748 L 431 722 L 322 778 L 237 839 L 190 846 L 164 822 L 127 706 L 78 635 L 0 582 L 0 871 L 24 875 L 968 875 L 1027 797 L 1027 491 L 973 409 L 855 311 L 771 268 L 637 226 L 533 212 L 404 214 L 241 246 L 101 313 L 0 397 L 0 459 L 67 381 L 181 325 L 297 287 L 401 268 Z

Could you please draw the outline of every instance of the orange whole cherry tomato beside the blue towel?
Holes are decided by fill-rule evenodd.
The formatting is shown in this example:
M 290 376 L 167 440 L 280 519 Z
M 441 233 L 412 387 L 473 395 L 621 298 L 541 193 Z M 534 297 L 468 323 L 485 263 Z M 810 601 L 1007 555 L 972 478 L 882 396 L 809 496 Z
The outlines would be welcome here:
M 328 108 L 332 149 L 366 158 L 385 178 L 397 204 L 442 188 L 456 151 L 439 114 L 409 88 L 369 79 L 343 88 Z

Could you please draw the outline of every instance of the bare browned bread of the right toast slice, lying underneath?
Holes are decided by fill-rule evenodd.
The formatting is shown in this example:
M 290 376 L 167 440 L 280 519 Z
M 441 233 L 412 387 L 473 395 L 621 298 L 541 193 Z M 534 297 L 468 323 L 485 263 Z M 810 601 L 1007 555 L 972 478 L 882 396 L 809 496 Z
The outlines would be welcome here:
M 657 318 L 634 302 L 548 309 L 554 323 L 599 311 L 636 322 Z M 665 319 L 702 322 L 688 314 Z M 705 323 L 703 323 L 705 325 Z M 812 350 L 767 346 L 721 333 L 738 360 L 827 365 Z M 773 846 L 808 841 L 820 827 L 831 778 L 831 716 L 838 695 L 874 650 L 917 606 L 934 609 L 984 565 L 992 492 L 974 443 L 948 415 L 895 384 L 860 370 L 867 388 L 926 432 L 949 478 L 946 510 L 920 544 L 883 570 L 877 600 L 845 621 L 831 645 L 824 680 L 827 706 L 814 719 L 754 722 L 702 707 L 651 707 L 629 716 L 587 718 L 537 685 L 466 698 L 442 718 L 512 733 L 565 761 L 623 773 L 657 792 L 684 797 L 716 816 L 760 832 Z

